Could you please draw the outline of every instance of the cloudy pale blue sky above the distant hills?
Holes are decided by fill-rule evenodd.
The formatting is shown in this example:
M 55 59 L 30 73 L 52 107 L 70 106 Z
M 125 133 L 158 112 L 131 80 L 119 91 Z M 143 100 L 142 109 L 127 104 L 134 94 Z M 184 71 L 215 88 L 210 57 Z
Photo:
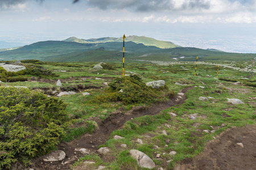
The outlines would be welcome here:
M 0 41 L 137 35 L 256 53 L 256 0 L 0 0 Z

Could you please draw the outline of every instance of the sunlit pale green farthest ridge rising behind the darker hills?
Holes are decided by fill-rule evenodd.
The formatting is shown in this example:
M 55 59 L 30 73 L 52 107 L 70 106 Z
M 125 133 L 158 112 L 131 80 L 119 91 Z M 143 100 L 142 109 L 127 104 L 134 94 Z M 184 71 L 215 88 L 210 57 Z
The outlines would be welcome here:
M 69 37 L 68 39 L 63 41 L 94 44 L 94 43 L 105 43 L 105 42 L 121 42 L 123 41 L 123 38 L 122 37 L 119 37 L 119 38 L 102 37 L 98 39 L 84 40 L 84 39 L 77 39 L 77 37 Z M 160 41 L 160 40 L 152 39 L 146 36 L 127 36 L 125 41 L 133 41 L 137 44 L 142 43 L 147 46 L 156 46 L 158 48 L 175 48 L 179 46 L 170 41 Z

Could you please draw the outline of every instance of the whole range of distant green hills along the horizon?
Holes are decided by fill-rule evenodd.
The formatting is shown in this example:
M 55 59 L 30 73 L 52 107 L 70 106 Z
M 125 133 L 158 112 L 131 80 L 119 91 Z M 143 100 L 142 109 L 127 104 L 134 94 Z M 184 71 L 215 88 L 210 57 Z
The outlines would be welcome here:
M 63 41 L 41 41 L 16 49 L 0 50 L 0 61 L 39 59 L 56 62 L 116 62 L 122 60 L 123 39 L 102 37 Z M 159 41 L 145 36 L 127 36 L 125 58 L 137 61 L 245 61 L 253 60 L 256 54 L 226 53 L 216 49 L 181 47 L 168 41 Z

